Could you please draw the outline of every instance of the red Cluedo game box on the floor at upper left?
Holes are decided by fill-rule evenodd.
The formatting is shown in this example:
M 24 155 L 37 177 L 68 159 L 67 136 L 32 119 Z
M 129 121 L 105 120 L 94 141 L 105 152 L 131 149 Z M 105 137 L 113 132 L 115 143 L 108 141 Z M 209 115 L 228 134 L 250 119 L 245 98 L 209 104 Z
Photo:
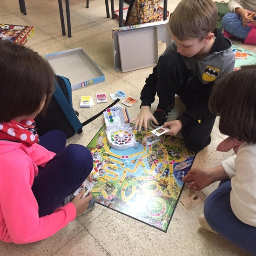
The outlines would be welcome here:
M 0 24 L 0 40 L 8 40 L 24 45 L 34 34 L 34 27 Z

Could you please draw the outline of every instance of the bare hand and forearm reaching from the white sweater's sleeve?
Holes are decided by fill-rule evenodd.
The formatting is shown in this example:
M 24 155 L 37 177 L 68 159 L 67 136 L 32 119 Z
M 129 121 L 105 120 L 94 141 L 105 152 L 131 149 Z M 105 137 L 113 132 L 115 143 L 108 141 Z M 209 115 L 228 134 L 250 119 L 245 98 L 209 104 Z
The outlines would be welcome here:
M 200 167 L 193 168 L 188 171 L 188 174 L 182 179 L 182 181 L 185 183 L 191 183 L 188 186 L 189 189 L 199 191 L 216 181 L 228 178 L 229 176 L 225 173 L 222 165 L 218 165 L 209 169 Z

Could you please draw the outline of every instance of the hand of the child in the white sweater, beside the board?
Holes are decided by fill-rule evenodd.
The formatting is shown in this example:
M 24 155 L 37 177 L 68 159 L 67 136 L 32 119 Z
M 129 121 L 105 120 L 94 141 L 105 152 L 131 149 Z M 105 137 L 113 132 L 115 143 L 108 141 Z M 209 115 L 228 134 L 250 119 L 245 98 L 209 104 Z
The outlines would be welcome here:
M 182 181 L 185 183 L 194 182 L 189 184 L 189 189 L 195 189 L 196 191 L 199 191 L 214 182 L 210 174 L 211 172 L 208 169 L 193 168 L 188 171 L 188 174 L 183 177 Z

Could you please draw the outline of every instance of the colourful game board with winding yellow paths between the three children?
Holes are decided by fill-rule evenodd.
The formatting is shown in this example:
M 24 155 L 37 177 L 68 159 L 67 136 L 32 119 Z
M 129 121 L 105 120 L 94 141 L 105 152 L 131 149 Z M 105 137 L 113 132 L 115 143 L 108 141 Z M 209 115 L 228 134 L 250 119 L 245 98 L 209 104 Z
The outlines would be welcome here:
M 168 135 L 148 145 L 143 138 L 153 135 L 150 130 L 132 131 L 135 148 L 111 148 L 105 125 L 89 143 L 94 159 L 92 193 L 101 205 L 166 232 L 195 152 Z

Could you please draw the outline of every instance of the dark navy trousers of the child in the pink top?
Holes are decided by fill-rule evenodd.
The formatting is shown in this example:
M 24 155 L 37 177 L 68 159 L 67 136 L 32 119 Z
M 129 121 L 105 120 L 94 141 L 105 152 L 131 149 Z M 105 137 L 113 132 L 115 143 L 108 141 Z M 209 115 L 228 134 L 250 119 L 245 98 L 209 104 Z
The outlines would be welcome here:
M 32 191 L 39 206 L 39 216 L 54 212 L 63 200 L 80 187 L 93 168 L 93 158 L 82 145 L 66 145 L 66 135 L 52 130 L 40 137 L 40 145 L 57 155 L 45 167 L 39 167 Z

